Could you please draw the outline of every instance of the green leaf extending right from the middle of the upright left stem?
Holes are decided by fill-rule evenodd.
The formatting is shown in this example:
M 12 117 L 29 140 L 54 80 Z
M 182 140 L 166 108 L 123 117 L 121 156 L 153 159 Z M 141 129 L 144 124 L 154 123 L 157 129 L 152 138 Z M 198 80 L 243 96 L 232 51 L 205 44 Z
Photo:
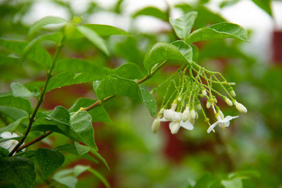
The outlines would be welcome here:
M 73 72 L 59 73 L 58 75 L 50 79 L 46 92 L 67 85 L 93 82 L 94 80 L 101 80 L 103 78 L 104 76 L 102 75 L 94 75 L 91 73 L 73 73 Z

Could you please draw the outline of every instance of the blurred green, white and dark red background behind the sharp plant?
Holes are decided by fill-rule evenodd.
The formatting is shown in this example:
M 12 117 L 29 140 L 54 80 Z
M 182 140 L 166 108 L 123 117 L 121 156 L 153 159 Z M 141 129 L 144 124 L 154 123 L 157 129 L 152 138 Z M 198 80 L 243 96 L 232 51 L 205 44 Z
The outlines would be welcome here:
M 235 82 L 237 99 L 248 109 L 248 113 L 240 114 L 228 130 L 207 134 L 207 124 L 200 116 L 193 131 L 180 130 L 178 134 L 171 135 L 164 123 L 159 132 L 153 134 L 153 118 L 145 107 L 137 101 L 118 96 L 104 104 L 112 123 L 94 123 L 99 153 L 108 161 L 111 171 L 102 164 L 71 155 L 66 157 L 63 168 L 77 164 L 91 165 L 109 180 L 112 187 L 207 187 L 200 183 L 228 182 L 235 176 L 243 180 L 243 187 L 282 187 L 282 32 L 279 30 L 282 20 L 275 23 L 277 18 L 271 18 L 277 13 L 276 7 L 282 6 L 278 1 L 272 2 L 274 4 L 271 14 L 266 6 L 259 8 L 252 1 L 150 1 L 142 4 L 122 0 L 7 0 L 0 1 L 0 37 L 28 40 L 30 25 L 39 18 L 46 15 L 68 19 L 80 16 L 84 23 L 114 25 L 130 32 L 131 36 L 106 37 L 111 49 L 110 57 L 104 56 L 86 39 L 68 40 L 61 57 L 85 58 L 110 68 L 132 62 L 145 70 L 142 61 L 150 45 L 176 40 L 168 24 L 168 16 L 177 17 L 181 13 L 197 11 L 194 28 L 197 29 L 225 21 L 227 18 L 223 14 L 228 13 L 233 19 L 228 21 L 235 22 L 234 18 L 244 20 L 244 10 L 250 10 L 250 17 L 256 21 L 250 24 L 250 28 L 247 21 L 246 26 L 243 25 L 249 30 L 250 44 L 233 39 L 196 44 L 200 49 L 198 63 L 220 71 L 229 82 Z M 146 9 L 147 6 L 155 8 Z M 214 7 L 218 11 L 214 11 Z M 264 30 L 254 27 L 259 21 L 264 24 Z M 41 34 L 51 30 L 56 30 L 56 27 L 44 27 Z M 50 54 L 54 54 L 53 44 L 43 45 Z M 1 48 L 0 53 L 11 54 Z M 174 70 L 175 65 L 166 66 L 144 86 L 148 90 L 157 87 Z M 0 62 L 1 92 L 8 92 L 11 82 L 25 84 L 43 79 L 44 70 L 37 63 Z M 163 95 L 161 92 L 155 94 L 158 103 Z M 69 108 L 80 97 L 95 97 L 91 84 L 55 89 L 47 94 L 43 108 L 51 110 L 57 105 Z M 225 114 L 238 114 L 235 108 L 223 101 L 219 101 L 219 105 Z M 5 120 L 0 120 L 0 125 L 4 125 L 2 121 Z M 51 148 L 68 142 L 65 137 L 52 134 L 32 147 Z M 37 179 L 38 187 L 46 187 L 45 182 L 39 177 Z M 83 173 L 77 187 L 103 187 L 103 184 L 90 173 Z M 222 187 L 222 184 L 215 183 L 213 187 Z

